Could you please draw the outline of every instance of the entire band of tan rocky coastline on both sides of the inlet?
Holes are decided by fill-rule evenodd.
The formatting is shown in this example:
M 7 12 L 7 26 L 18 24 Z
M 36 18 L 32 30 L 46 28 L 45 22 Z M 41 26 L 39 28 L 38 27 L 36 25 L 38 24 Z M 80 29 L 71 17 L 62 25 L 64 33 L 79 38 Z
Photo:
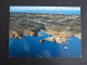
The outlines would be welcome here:
M 38 30 L 39 31 L 39 30 Z M 9 38 L 17 38 L 17 39 L 24 39 L 22 36 L 39 36 L 39 37 L 45 37 L 44 35 L 39 35 L 38 31 L 33 31 L 33 30 L 24 30 L 22 34 L 18 34 L 17 31 L 11 30 L 9 31 Z M 48 35 L 52 35 L 52 37 L 45 38 L 39 40 L 39 43 L 44 43 L 46 40 L 51 41 L 51 42 L 57 42 L 57 43 L 67 43 L 67 40 L 76 36 L 78 39 L 80 38 L 80 34 L 72 34 L 72 32 L 58 32 L 58 31 L 45 31 Z

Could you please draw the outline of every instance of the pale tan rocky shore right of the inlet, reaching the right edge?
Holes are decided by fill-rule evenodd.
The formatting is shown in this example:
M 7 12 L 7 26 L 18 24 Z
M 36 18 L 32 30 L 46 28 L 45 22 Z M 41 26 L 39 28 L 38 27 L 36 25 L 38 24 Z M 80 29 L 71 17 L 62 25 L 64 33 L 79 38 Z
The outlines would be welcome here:
M 46 38 L 44 40 L 40 40 L 40 43 L 44 43 L 45 40 L 51 41 L 51 42 L 57 42 L 57 43 L 67 43 L 67 40 L 73 37 L 76 36 L 78 39 L 82 39 L 80 34 L 73 34 L 73 32 L 69 32 L 69 31 L 53 31 L 53 30 L 48 30 L 46 31 L 48 35 L 52 35 L 52 37 Z

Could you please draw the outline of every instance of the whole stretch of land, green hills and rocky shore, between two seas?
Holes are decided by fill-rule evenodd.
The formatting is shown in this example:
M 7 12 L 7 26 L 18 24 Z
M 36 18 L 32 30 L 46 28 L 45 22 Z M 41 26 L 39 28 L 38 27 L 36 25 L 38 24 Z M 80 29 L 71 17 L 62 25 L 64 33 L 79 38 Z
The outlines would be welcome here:
M 44 43 L 46 40 L 57 43 L 67 43 L 66 41 L 76 36 L 80 36 L 80 16 L 67 14 L 48 14 L 48 13 L 11 13 L 9 24 L 9 38 L 24 39 L 22 36 L 39 36 L 38 31 L 44 30 L 52 37 L 39 40 Z

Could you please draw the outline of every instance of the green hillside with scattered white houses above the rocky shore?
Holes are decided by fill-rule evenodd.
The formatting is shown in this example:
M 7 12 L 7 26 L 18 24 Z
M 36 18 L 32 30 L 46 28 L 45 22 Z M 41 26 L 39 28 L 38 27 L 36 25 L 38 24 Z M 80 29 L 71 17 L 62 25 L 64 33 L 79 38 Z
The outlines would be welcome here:
M 50 35 L 58 32 L 80 34 L 80 16 L 52 13 L 10 13 L 9 30 L 44 29 Z

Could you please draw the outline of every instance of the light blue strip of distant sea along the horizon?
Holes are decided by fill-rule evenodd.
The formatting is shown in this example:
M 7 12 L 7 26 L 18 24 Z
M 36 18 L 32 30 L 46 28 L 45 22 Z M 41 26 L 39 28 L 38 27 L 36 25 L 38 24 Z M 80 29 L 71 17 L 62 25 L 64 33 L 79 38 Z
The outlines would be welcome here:
M 71 15 L 80 15 L 79 10 L 18 10 L 10 12 L 24 12 L 24 13 L 59 13 L 59 14 L 71 14 Z

